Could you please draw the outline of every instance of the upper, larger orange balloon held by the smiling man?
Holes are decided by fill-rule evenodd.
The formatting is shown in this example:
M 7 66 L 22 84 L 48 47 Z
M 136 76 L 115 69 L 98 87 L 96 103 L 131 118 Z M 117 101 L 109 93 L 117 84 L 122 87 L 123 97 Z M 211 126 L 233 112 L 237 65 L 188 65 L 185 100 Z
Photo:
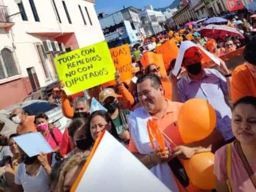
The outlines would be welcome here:
M 184 143 L 200 141 L 213 132 L 216 126 L 216 113 L 206 100 L 189 99 L 182 105 L 177 123 Z

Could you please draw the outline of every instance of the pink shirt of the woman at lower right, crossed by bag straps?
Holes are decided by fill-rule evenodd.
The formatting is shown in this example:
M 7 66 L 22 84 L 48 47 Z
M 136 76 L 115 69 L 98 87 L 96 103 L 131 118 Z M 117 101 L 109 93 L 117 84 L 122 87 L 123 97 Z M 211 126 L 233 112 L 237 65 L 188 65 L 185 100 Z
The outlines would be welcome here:
M 256 164 L 250 164 L 256 175 Z M 214 174 L 221 182 L 227 180 L 227 146 L 223 146 L 215 153 Z M 231 178 L 229 178 L 233 192 L 256 191 L 249 175 L 244 168 L 240 156 L 236 152 L 234 143 L 231 145 Z

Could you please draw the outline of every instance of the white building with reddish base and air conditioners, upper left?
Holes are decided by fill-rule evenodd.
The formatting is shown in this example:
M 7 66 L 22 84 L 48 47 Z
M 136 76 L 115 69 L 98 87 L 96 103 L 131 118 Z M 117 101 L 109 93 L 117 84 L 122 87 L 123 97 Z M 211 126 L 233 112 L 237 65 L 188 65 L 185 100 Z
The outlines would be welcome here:
M 104 40 L 94 0 L 2 0 L 0 31 L 0 108 L 58 81 L 54 57 Z

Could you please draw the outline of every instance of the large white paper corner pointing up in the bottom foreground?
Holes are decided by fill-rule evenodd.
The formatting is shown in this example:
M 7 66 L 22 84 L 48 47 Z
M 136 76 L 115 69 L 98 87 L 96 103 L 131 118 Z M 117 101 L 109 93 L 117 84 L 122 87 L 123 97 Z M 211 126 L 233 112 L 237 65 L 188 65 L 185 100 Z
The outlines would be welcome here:
M 76 192 L 170 192 L 110 133 L 106 132 Z

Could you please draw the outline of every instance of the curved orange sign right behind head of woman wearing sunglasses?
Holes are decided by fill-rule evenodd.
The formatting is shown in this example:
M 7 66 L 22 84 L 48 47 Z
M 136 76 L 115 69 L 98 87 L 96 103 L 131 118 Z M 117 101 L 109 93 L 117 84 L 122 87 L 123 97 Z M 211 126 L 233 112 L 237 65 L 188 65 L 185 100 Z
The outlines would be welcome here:
M 162 54 L 156 54 L 154 52 L 146 52 L 143 54 L 141 57 L 141 64 L 143 68 L 145 69 L 149 64 L 155 64 L 156 66 L 160 67 L 160 72 L 162 77 L 166 77 L 166 69 L 164 67 L 164 62 L 163 62 L 163 56 Z

